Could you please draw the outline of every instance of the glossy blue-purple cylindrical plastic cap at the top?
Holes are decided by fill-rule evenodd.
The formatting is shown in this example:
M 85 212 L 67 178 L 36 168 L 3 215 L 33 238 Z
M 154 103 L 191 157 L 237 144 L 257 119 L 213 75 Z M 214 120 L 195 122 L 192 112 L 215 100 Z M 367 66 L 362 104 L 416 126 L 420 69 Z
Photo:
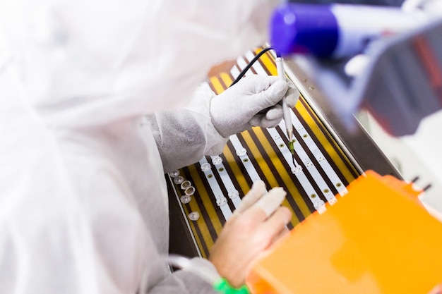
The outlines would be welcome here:
M 270 42 L 282 56 L 326 57 L 338 44 L 338 22 L 329 5 L 284 4 L 270 21 Z

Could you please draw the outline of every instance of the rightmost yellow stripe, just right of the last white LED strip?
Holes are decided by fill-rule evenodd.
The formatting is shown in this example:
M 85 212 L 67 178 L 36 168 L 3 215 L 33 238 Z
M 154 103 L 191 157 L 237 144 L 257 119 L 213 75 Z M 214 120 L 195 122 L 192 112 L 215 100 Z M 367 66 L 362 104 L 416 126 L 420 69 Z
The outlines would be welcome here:
M 304 99 L 304 97 L 301 97 L 301 99 Z M 316 121 L 313 120 L 309 112 L 304 108 L 304 104 L 298 103 L 296 105 L 296 109 L 297 111 L 299 111 L 299 114 L 301 114 L 302 118 L 304 118 L 304 121 L 307 123 L 307 125 L 309 125 L 309 128 L 311 128 L 311 131 L 321 143 L 321 145 L 325 149 L 325 152 L 330 156 L 335 165 L 338 166 L 338 169 L 341 171 L 342 175 L 345 177 L 348 183 L 354 180 L 352 173 L 349 169 L 347 169 L 347 166 L 345 165 L 344 161 L 342 161 L 339 154 L 335 151 L 333 145 L 331 145 L 330 141 L 327 139 L 327 137 L 325 137 L 322 130 L 316 124 Z

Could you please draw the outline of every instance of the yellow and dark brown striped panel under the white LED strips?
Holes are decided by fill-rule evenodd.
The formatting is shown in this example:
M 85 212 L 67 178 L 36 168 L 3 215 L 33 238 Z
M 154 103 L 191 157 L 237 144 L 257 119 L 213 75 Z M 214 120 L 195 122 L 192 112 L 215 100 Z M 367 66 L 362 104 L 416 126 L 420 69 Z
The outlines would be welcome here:
M 250 51 L 249 55 L 241 56 L 237 65 L 234 66 L 236 68 L 232 68 L 230 73 L 219 73 L 211 77 L 208 84 L 212 90 L 219 94 L 227 89 L 234 80 L 234 73 L 239 73 L 241 68 L 244 68 L 240 64 L 248 63 L 251 56 L 255 56 L 259 51 L 261 49 Z M 269 52 L 261 56 L 258 63 L 257 66 L 251 68 L 251 73 L 277 74 L 275 60 Z M 258 67 L 261 69 L 261 72 L 258 71 Z M 180 176 L 185 180 L 189 180 L 191 185 L 196 188 L 192 195 L 192 200 L 186 204 L 180 202 L 180 205 L 189 223 L 189 230 L 193 235 L 194 243 L 196 243 L 202 257 L 208 257 L 210 247 L 215 242 L 217 234 L 220 233 L 226 221 L 227 217 L 222 210 L 226 211 L 227 209 L 227 211 L 233 212 L 235 209 L 233 200 L 227 197 L 231 189 L 227 188 L 225 181 L 223 181 L 220 175 L 228 176 L 231 181 L 229 185 L 233 185 L 239 192 L 239 198 L 244 197 L 253 183 L 251 173 L 246 169 L 245 164 L 252 166 L 254 172 L 265 182 L 269 189 L 276 186 L 285 188 L 287 198 L 283 205 L 289 207 L 293 213 L 289 228 L 293 228 L 297 223 L 304 220 L 306 216 L 315 211 L 317 207 L 313 206 L 313 197 L 319 197 L 326 202 L 327 199 L 323 195 L 324 192 L 328 191 L 325 190 L 330 190 L 330 193 L 336 195 L 340 192 L 341 185 L 346 186 L 359 176 L 357 169 L 342 151 L 338 142 L 330 135 L 325 125 L 313 112 L 313 109 L 311 109 L 304 97 L 300 98 L 297 106 L 292 110 L 294 119 L 297 119 L 303 126 L 302 133 L 294 132 L 294 138 L 309 157 L 309 159 L 306 159 L 304 158 L 305 156 L 301 157 L 299 154 L 295 154 L 294 159 L 301 164 L 303 176 L 311 183 L 310 191 L 313 190 L 313 193 L 307 192 L 303 188 L 304 186 L 301 185 L 299 177 L 295 176 L 289 162 L 282 156 L 281 150 L 283 146 L 282 144 L 278 145 L 274 139 L 279 135 L 285 144 L 288 142 L 285 132 L 279 126 L 273 130 L 273 133 L 263 128 L 252 128 L 235 135 L 234 140 L 229 140 L 224 151 L 220 154 L 223 164 L 222 168 L 213 165 L 213 172 L 211 173 L 204 173 L 201 170 L 202 161 L 179 170 Z M 277 135 L 275 136 L 275 134 Z M 233 138 L 231 137 L 231 139 Z M 237 142 L 237 144 L 246 149 L 248 155 L 246 159 L 237 155 L 238 148 L 232 142 Z M 316 149 L 311 149 L 311 146 L 309 146 L 309 144 L 312 144 L 311 142 L 313 142 L 313 145 L 316 145 Z M 321 154 L 321 157 L 318 157 L 318 152 Z M 211 157 L 206 157 L 205 160 L 208 163 L 212 162 Z M 331 169 L 333 169 L 335 178 L 340 179 L 339 183 L 334 183 L 333 177 L 328 176 L 330 169 L 324 169 L 323 162 L 320 162 L 322 160 L 328 162 Z M 311 172 L 312 169 L 316 173 Z M 319 187 L 318 175 L 322 178 L 321 183 L 328 187 L 327 189 L 321 190 L 321 187 Z M 166 176 L 173 188 L 174 198 L 177 198 L 179 201 L 180 197 L 184 195 L 184 190 L 181 189 L 180 185 L 174 184 L 171 176 Z M 225 195 L 225 203 L 220 204 L 219 200 L 217 201 L 219 195 L 215 195 L 210 186 L 210 183 L 215 183 L 214 181 L 219 185 L 218 192 Z M 191 212 L 198 212 L 199 219 L 196 221 L 189 219 Z

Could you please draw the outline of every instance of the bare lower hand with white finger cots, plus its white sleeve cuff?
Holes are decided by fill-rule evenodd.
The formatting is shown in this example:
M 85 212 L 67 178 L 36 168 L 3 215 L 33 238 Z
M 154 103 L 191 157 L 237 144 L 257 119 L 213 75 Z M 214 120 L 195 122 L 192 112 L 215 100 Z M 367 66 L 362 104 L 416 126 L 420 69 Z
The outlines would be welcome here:
M 168 290 L 177 288 L 175 278 L 181 278 L 181 286 L 191 289 L 190 293 L 211 293 L 210 289 L 206 289 L 208 292 L 198 290 L 213 286 L 221 278 L 232 288 L 243 287 L 251 262 L 288 232 L 286 225 L 292 214 L 287 207 L 280 206 L 285 195 L 282 188 L 267 192 L 261 180 L 253 183 L 217 236 L 210 249 L 210 262 L 193 258 L 184 270 L 155 283 L 148 293 L 173 293 Z

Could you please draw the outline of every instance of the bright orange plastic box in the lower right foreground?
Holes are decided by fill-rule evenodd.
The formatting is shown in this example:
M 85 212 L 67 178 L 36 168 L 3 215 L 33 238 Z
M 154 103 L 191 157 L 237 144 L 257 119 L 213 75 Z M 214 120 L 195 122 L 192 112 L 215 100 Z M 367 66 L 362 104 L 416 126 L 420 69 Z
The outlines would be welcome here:
M 347 190 L 256 260 L 251 293 L 426 294 L 442 283 L 442 223 L 422 191 L 374 171 Z

